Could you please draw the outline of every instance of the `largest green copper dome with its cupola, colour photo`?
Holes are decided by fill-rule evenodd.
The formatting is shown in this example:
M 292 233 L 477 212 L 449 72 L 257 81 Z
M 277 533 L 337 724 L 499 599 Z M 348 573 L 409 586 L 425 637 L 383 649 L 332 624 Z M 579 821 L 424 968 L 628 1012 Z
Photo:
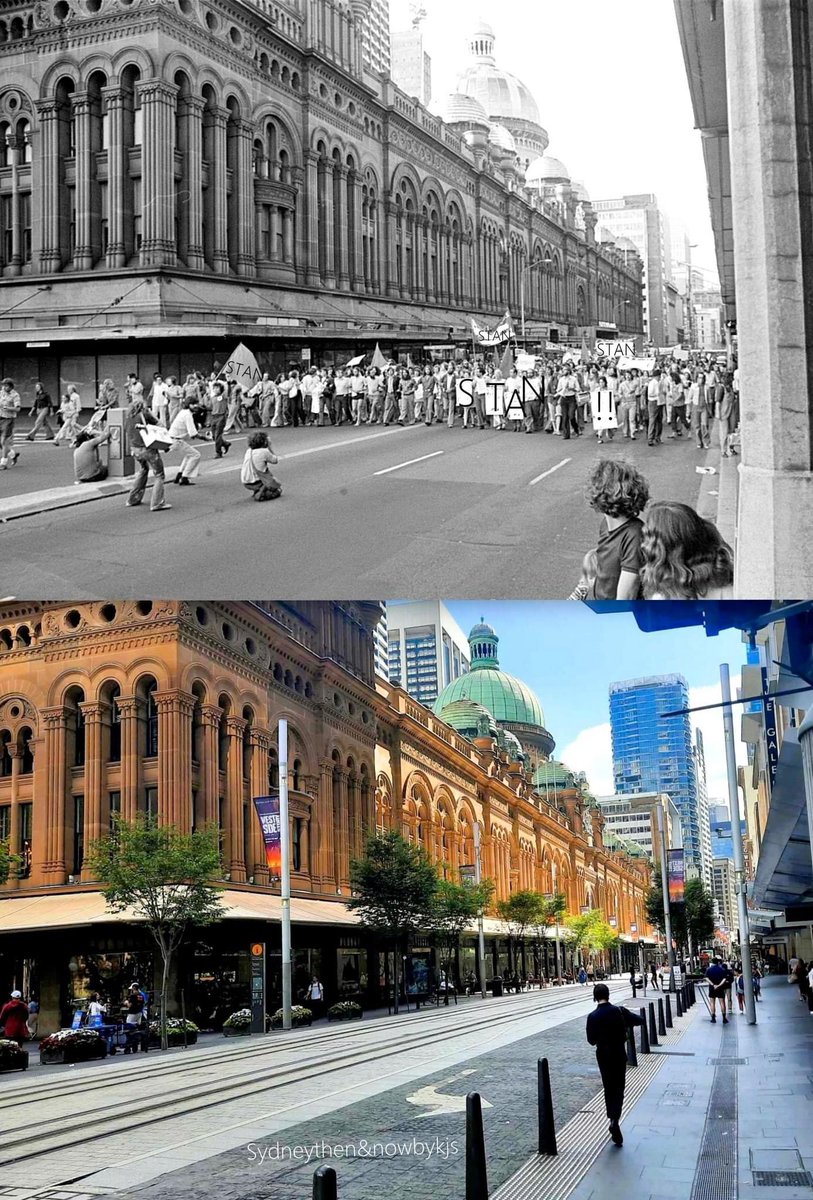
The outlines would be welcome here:
M 480 622 L 469 634 L 471 668 L 450 683 L 433 706 L 436 716 L 447 704 L 458 700 L 474 700 L 492 714 L 498 725 L 518 722 L 544 728 L 542 706 L 520 679 L 500 671 L 496 658 L 499 637 L 490 625 Z

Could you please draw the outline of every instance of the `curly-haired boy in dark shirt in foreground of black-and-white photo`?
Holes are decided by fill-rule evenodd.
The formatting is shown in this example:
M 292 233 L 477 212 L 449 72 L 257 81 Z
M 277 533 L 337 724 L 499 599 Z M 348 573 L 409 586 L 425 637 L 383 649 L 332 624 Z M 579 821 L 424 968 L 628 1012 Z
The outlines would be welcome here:
M 636 600 L 640 592 L 640 539 L 638 515 L 649 502 L 649 484 L 622 461 L 604 458 L 596 466 L 588 488 L 590 508 L 603 515 L 596 547 L 596 600 Z

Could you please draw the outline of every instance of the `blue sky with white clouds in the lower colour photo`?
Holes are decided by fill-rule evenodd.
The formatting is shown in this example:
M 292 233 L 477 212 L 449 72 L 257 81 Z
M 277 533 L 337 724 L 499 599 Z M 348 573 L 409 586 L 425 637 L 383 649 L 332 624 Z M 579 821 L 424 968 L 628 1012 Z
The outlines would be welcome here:
M 658 601 L 652 601 L 656 606 Z M 554 756 L 584 770 L 598 796 L 613 792 L 609 684 L 654 674 L 682 674 L 692 707 L 719 702 L 719 664 L 728 662 L 736 695 L 746 647 L 739 630 L 709 637 L 703 628 L 642 632 L 631 613 L 595 613 L 573 601 L 446 601 L 468 635 L 482 618 L 500 638 L 500 668 L 540 698 Z M 740 709 L 734 709 L 734 732 Z M 703 732 L 710 799 L 728 803 L 723 720 L 719 709 L 695 713 Z M 745 745 L 736 743 L 740 762 Z

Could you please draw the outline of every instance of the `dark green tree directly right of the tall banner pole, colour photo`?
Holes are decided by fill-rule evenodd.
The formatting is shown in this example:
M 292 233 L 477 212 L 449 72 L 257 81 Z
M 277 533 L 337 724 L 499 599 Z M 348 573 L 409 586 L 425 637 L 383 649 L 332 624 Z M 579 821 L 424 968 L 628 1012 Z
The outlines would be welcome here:
M 416 929 L 432 923 L 439 882 L 428 854 L 395 829 L 369 838 L 363 857 L 350 863 L 355 894 L 348 900 L 348 908 L 359 914 L 366 929 L 393 948 L 396 1013 L 399 948 Z

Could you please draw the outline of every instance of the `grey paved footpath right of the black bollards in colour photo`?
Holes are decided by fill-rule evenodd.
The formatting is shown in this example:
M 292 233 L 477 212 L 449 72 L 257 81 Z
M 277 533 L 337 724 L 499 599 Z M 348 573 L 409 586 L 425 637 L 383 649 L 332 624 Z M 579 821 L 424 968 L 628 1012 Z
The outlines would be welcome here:
M 627 1073 L 622 1148 L 594 1104 L 601 1144 L 579 1136 L 579 1115 L 558 1158 L 530 1159 L 495 1200 L 812 1200 L 813 1019 L 796 989 L 766 979 L 754 1026 L 736 1012 L 712 1025 L 698 989 L 683 1026 L 643 1088 L 655 1055 Z

